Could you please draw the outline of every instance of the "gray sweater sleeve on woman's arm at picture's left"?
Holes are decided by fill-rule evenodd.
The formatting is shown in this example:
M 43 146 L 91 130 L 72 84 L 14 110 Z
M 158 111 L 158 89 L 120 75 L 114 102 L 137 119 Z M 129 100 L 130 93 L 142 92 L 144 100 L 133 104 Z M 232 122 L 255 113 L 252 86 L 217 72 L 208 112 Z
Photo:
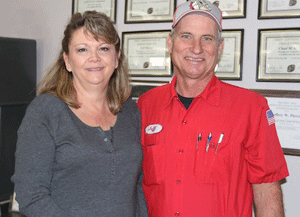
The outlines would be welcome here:
M 53 118 L 45 111 L 44 101 L 35 99 L 18 130 L 12 181 L 20 212 L 28 217 L 69 216 L 51 198 L 55 142 L 49 126 Z

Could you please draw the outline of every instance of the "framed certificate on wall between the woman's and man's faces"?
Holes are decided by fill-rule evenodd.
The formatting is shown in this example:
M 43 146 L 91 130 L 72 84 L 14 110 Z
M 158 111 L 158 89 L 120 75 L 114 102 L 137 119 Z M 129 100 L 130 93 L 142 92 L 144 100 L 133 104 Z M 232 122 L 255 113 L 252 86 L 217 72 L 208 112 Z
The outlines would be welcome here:
M 169 33 L 167 30 L 123 32 L 123 50 L 130 76 L 171 76 Z

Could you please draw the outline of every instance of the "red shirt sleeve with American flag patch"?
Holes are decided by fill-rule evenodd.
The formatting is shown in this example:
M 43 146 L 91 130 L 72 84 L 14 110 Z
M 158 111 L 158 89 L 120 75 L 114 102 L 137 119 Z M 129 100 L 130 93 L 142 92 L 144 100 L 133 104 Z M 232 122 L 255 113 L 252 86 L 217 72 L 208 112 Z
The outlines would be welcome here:
M 277 136 L 274 115 L 265 98 L 251 117 L 246 142 L 248 180 L 252 184 L 271 183 L 287 177 L 288 169 Z

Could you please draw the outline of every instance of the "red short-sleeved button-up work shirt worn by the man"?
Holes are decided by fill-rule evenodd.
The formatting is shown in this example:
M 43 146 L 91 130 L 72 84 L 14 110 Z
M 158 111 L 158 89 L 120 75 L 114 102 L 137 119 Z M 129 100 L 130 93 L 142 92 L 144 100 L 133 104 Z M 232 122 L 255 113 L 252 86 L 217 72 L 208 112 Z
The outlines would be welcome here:
M 214 76 L 187 110 L 175 84 L 138 101 L 149 216 L 252 217 L 252 184 L 288 176 L 266 99 Z

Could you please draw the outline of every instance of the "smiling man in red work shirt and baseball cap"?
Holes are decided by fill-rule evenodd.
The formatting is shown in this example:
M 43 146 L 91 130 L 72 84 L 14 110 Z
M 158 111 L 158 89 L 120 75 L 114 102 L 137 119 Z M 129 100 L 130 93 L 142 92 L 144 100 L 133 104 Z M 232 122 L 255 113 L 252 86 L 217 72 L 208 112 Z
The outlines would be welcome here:
M 175 77 L 140 97 L 144 192 L 152 217 L 283 216 L 288 176 L 262 96 L 214 75 L 221 12 L 205 0 L 176 9 L 168 49 Z

